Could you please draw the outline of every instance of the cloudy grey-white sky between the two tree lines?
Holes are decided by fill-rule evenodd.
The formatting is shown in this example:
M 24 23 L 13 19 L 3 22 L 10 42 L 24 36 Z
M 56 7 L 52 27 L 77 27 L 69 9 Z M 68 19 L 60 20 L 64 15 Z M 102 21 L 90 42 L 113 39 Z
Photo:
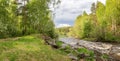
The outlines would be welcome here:
M 105 4 L 105 0 L 98 0 Z M 85 10 L 90 13 L 90 7 L 97 0 L 61 0 L 59 8 L 56 9 L 54 19 L 56 27 L 72 26 L 76 17 Z

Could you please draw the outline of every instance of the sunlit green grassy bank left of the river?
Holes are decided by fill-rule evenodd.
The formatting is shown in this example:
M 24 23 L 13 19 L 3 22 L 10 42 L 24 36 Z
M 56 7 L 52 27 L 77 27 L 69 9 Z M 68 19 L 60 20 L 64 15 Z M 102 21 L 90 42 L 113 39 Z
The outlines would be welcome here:
M 70 61 L 61 51 L 45 45 L 41 38 L 24 36 L 0 42 L 0 61 Z

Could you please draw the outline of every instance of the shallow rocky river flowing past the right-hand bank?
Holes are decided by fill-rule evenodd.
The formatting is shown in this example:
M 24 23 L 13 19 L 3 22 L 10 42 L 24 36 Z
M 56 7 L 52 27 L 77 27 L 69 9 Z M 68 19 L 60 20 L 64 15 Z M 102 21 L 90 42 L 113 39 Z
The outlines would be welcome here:
M 110 57 L 109 61 L 120 61 L 120 44 L 90 42 L 75 38 L 60 38 L 60 41 L 72 48 L 84 47 L 99 54 L 107 54 Z

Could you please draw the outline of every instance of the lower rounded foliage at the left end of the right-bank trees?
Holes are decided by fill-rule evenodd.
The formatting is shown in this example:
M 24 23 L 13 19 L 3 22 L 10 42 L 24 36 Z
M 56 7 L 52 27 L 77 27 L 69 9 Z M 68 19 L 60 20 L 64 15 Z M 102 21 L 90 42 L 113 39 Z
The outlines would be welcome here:
M 74 35 L 77 38 L 86 38 L 91 36 L 92 31 L 92 18 L 83 13 L 83 16 L 78 16 L 73 27 Z

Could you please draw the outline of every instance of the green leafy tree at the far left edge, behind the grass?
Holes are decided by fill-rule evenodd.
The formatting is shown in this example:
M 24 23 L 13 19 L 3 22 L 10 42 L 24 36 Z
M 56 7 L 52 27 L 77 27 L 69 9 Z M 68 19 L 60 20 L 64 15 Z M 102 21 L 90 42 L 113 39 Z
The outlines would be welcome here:
M 0 0 L 0 24 L 2 37 L 16 36 L 18 33 L 18 21 L 16 12 L 16 5 L 14 0 Z

